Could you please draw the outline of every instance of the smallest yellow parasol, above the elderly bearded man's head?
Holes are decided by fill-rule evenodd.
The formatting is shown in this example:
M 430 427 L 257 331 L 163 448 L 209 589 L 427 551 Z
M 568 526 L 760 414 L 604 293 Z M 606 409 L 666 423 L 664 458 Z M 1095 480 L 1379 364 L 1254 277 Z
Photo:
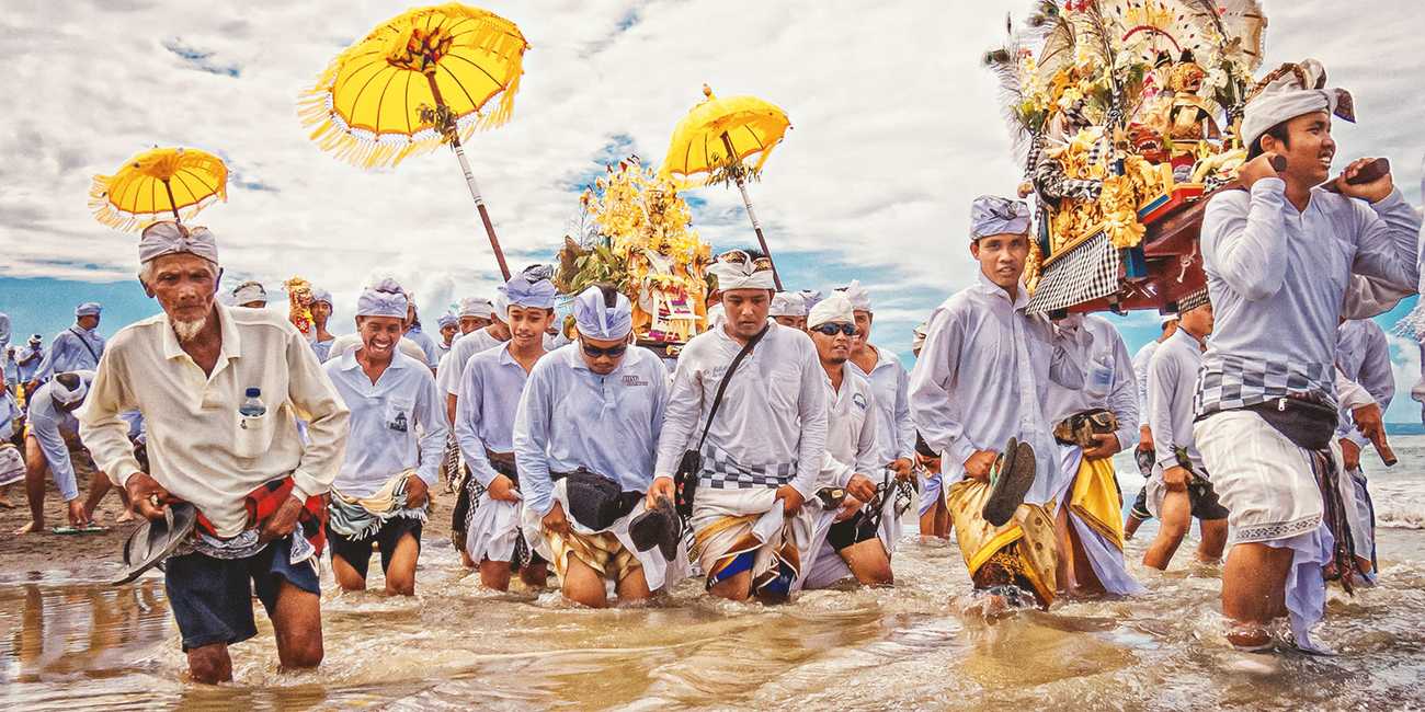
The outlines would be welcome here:
M 124 231 L 140 229 L 168 215 L 180 222 L 192 219 L 212 201 L 227 199 L 228 167 L 197 148 L 144 151 L 114 175 L 95 175 L 90 187 L 94 218 Z

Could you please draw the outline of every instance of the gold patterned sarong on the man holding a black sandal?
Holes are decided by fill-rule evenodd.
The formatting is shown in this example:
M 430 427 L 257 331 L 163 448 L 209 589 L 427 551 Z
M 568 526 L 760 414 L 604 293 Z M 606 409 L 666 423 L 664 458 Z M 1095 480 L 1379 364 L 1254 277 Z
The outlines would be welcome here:
M 1059 550 L 1054 544 L 1053 517 L 1037 504 L 1020 504 L 1015 517 L 1003 527 L 985 521 L 982 514 L 990 486 L 979 480 L 960 480 L 945 493 L 955 527 L 955 541 L 960 545 L 965 567 L 970 578 L 996 554 L 1006 553 L 1019 564 L 1022 572 L 1035 587 L 1035 592 L 1052 604 L 1057 590 L 1056 568 Z M 1017 545 L 1015 545 L 1017 544 Z

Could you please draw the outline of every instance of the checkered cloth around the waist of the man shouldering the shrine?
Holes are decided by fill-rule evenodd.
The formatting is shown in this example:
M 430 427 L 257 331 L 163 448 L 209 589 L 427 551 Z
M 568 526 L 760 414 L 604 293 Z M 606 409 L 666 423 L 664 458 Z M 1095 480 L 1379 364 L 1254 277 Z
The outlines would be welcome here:
M 1198 416 L 1255 406 L 1288 394 L 1315 393 L 1334 404 L 1334 363 L 1261 362 L 1241 356 L 1203 355 L 1193 410 Z

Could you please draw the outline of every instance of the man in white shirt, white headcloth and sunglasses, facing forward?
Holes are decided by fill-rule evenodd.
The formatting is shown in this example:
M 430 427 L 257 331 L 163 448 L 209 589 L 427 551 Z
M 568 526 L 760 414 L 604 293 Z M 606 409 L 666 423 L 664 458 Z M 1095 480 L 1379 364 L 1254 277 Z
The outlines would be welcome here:
M 842 490 L 845 498 L 836 503 L 818 497 L 808 504 L 821 514 L 799 587 L 826 588 L 848 575 L 865 585 L 886 585 L 892 582 L 891 551 L 901 531 L 895 523 L 895 488 L 876 490 L 876 484 L 891 483 L 885 478 L 886 463 L 878 461 L 875 393 L 861 372 L 846 367 L 856 339 L 851 299 L 834 292 L 812 308 L 807 326 L 826 390 L 821 491 Z

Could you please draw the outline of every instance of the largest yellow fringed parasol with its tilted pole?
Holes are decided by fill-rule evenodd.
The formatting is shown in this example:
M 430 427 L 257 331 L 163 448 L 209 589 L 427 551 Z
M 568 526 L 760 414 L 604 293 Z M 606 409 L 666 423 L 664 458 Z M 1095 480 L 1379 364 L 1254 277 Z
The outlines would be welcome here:
M 449 144 L 509 279 L 460 142 L 510 120 L 526 48 L 514 23 L 486 10 L 460 3 L 409 10 L 332 60 L 302 93 L 302 124 L 323 151 L 362 168 L 396 165 Z

